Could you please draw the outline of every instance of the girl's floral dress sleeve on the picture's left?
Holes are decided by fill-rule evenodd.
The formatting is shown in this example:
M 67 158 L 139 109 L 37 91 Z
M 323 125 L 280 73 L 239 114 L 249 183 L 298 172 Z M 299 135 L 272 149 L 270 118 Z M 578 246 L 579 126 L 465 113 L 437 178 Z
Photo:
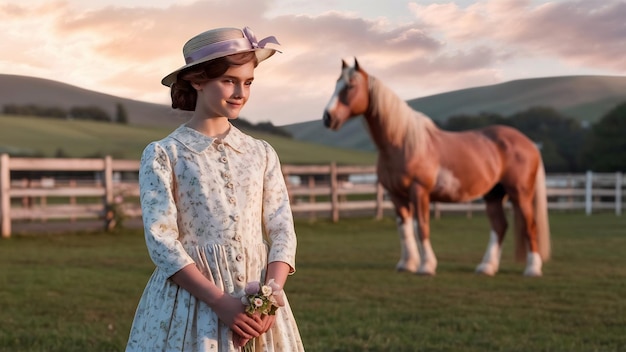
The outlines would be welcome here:
M 141 157 L 139 193 L 148 253 L 167 277 L 194 263 L 178 240 L 172 164 L 156 142 Z

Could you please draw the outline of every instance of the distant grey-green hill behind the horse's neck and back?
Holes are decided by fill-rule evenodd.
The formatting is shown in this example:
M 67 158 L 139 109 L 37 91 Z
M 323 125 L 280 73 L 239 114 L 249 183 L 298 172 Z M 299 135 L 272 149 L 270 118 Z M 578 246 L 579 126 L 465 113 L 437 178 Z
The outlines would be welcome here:
M 433 120 L 454 115 L 498 113 L 510 116 L 531 107 L 546 106 L 563 116 L 593 123 L 617 104 L 626 101 L 626 77 L 565 76 L 534 78 L 456 90 L 407 103 Z M 363 119 L 355 118 L 337 132 L 320 120 L 282 126 L 294 138 L 325 145 L 360 150 L 374 150 Z

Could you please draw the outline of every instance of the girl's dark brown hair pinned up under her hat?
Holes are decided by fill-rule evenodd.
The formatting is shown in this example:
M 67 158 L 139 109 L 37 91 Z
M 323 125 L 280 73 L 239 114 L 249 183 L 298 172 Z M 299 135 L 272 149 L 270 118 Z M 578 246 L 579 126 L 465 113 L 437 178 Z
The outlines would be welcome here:
M 172 96 L 172 108 L 194 111 L 198 92 L 193 88 L 191 82 L 202 84 L 208 80 L 218 78 L 231 66 L 240 66 L 250 61 L 254 61 L 254 67 L 259 64 L 254 52 L 246 52 L 228 56 L 194 65 L 178 73 L 176 82 L 172 84 L 170 94 Z

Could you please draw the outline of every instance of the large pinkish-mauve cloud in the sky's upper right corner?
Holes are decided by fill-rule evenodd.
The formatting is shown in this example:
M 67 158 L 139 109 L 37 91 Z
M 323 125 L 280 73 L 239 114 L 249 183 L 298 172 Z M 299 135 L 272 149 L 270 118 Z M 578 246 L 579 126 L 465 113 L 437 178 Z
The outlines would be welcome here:
M 509 59 L 554 56 L 575 65 L 626 70 L 626 3 L 481 1 L 466 8 L 411 4 L 419 21 L 451 43 L 489 43 Z M 471 44 L 470 44 L 471 45 Z

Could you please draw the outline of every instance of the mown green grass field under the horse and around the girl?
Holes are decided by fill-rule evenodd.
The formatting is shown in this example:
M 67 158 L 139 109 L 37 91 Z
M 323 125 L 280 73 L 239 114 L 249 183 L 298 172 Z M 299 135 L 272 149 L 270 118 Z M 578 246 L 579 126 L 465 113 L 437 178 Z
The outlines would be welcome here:
M 525 278 L 505 241 L 477 276 L 481 216 L 432 221 L 437 276 L 394 271 L 394 221 L 297 222 L 286 287 L 307 351 L 624 351 L 626 217 L 551 214 L 553 260 Z M 153 266 L 142 233 L 0 241 L 0 351 L 122 351 Z

